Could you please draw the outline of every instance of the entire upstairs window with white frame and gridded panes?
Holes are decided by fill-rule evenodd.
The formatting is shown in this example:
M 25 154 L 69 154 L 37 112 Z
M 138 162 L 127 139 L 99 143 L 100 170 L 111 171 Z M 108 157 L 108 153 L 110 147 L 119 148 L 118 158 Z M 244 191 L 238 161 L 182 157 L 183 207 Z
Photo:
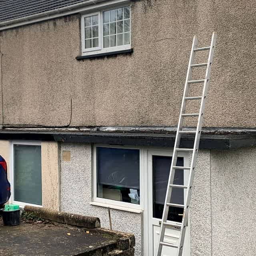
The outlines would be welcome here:
M 130 49 L 130 24 L 130 6 L 82 15 L 82 55 Z

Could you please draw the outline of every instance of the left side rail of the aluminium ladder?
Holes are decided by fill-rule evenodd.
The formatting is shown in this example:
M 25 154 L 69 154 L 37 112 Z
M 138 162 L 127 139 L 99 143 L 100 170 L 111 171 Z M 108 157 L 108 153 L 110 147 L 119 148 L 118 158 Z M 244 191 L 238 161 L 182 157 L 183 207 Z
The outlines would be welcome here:
M 197 38 L 197 36 L 194 36 L 193 42 L 192 42 L 192 48 L 191 48 L 191 52 L 190 52 L 189 65 L 188 65 L 188 70 L 187 70 L 187 75 L 186 75 L 186 82 L 185 82 L 185 86 L 184 86 L 184 93 L 183 93 L 183 98 L 182 98 L 182 107 L 180 109 L 180 116 L 179 116 L 179 121 L 178 121 L 177 132 L 176 132 L 176 139 L 175 139 L 175 143 L 174 143 L 174 150 L 173 150 L 173 154 L 172 154 L 172 162 L 171 162 L 170 174 L 169 174 L 169 178 L 168 178 L 166 197 L 165 197 L 165 201 L 164 201 L 164 210 L 163 210 L 162 222 L 161 222 L 161 227 L 160 227 L 160 235 L 159 235 L 158 246 L 157 246 L 157 250 L 156 250 L 156 255 L 157 256 L 161 256 L 161 253 L 162 253 L 162 246 L 163 245 L 160 244 L 160 242 L 164 241 L 164 233 L 165 233 L 164 222 L 167 221 L 168 210 L 169 210 L 169 206 L 167 206 L 167 203 L 170 202 L 171 195 L 172 195 L 172 187 L 170 187 L 170 183 L 173 183 L 173 180 L 174 180 L 175 170 L 173 169 L 173 166 L 176 166 L 176 162 L 177 162 L 176 148 L 179 147 L 179 144 L 180 144 L 180 133 L 179 133 L 179 131 L 180 131 L 180 127 L 182 126 L 182 123 L 183 123 L 182 114 L 184 113 L 184 110 L 186 110 L 185 97 L 188 94 L 188 88 L 189 88 L 188 81 L 190 80 L 191 72 L 192 72 L 191 64 L 194 62 L 194 48 L 197 44 L 198 44 L 198 38 Z

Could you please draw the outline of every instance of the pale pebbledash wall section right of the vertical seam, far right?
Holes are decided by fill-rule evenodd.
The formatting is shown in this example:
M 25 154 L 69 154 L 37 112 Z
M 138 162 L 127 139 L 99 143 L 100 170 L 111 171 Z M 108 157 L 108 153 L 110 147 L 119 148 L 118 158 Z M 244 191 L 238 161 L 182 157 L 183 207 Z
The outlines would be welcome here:
M 212 151 L 212 255 L 256 254 L 256 148 Z

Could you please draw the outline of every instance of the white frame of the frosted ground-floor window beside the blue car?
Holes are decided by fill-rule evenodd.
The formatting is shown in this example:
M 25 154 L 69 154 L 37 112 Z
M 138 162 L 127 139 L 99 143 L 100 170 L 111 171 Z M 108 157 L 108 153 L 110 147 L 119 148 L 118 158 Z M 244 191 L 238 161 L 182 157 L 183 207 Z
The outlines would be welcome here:
M 42 205 L 30 204 L 30 203 L 19 202 L 19 201 L 14 200 L 14 145 L 40 146 L 41 150 L 42 150 L 40 141 L 36 141 L 36 140 L 13 140 L 13 141 L 11 141 L 11 146 L 10 146 L 10 184 L 11 184 L 10 202 L 12 204 L 18 204 L 21 208 L 24 208 L 25 205 L 42 207 Z M 42 167 L 42 154 L 41 154 L 41 167 Z M 42 188 L 42 190 L 43 190 L 43 188 Z M 42 194 L 43 194 L 43 191 L 42 191 Z M 42 195 L 42 201 L 43 201 L 43 195 Z

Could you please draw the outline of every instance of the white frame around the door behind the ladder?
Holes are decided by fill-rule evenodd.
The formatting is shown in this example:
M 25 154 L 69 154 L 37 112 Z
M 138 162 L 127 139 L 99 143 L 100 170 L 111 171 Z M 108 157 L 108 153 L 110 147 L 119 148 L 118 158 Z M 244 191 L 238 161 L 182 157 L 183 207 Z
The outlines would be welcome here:
M 146 151 L 146 150 L 145 150 Z M 153 232 L 151 232 L 151 225 L 152 225 L 152 219 L 151 216 L 153 216 L 153 206 L 152 206 L 152 200 L 153 200 L 153 184 L 152 184 L 152 156 L 170 156 L 172 157 L 173 150 L 171 149 L 149 149 L 144 154 L 144 215 L 143 215 L 143 256 L 152 256 L 150 255 L 151 252 L 153 252 Z M 189 165 L 189 154 L 186 152 L 179 152 L 178 157 L 184 158 L 184 166 Z M 186 172 L 186 171 L 184 171 Z M 184 175 L 184 184 L 188 183 L 188 175 Z M 184 190 L 184 199 L 186 197 L 186 190 Z M 155 222 L 159 222 L 159 219 L 154 219 Z M 175 222 L 174 222 L 175 223 Z M 150 228 L 149 228 L 150 227 Z M 188 229 L 186 232 L 186 236 L 189 238 L 190 236 L 190 228 L 189 228 L 189 218 L 188 218 Z M 190 251 L 190 248 L 189 248 Z M 190 255 L 190 253 L 189 253 Z

